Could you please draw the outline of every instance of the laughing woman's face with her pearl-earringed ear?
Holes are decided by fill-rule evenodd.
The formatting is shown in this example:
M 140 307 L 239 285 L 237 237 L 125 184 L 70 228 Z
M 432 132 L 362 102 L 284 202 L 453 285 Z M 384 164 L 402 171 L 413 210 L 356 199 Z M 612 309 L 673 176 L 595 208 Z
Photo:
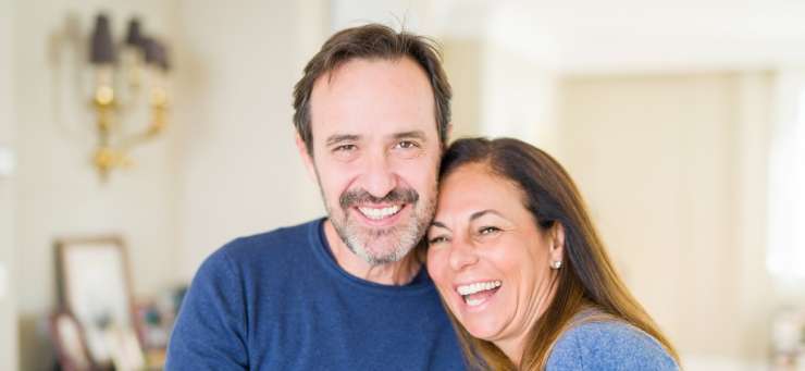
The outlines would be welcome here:
M 462 165 L 442 182 L 428 270 L 472 336 L 517 344 L 553 298 L 564 235 L 541 231 L 522 191 L 487 169 Z

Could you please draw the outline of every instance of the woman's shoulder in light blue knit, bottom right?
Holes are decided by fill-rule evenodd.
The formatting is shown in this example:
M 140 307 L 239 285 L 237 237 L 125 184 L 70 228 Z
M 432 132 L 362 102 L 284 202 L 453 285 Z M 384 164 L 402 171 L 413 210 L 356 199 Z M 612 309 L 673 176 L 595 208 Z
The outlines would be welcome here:
M 585 321 L 560 335 L 547 370 L 678 370 L 651 335 L 617 320 Z

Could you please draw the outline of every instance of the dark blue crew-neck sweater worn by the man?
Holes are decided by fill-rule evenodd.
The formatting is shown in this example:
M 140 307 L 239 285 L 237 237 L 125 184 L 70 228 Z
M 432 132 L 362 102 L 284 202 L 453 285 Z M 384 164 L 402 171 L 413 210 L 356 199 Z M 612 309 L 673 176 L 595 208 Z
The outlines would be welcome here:
M 387 286 L 345 272 L 318 220 L 238 238 L 185 296 L 168 371 L 462 370 L 425 269 Z

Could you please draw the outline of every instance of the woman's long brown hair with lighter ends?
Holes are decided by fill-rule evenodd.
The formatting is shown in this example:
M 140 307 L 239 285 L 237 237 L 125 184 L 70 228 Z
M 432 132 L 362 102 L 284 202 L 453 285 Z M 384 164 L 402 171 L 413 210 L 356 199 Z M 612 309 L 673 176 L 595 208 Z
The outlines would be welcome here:
M 653 336 L 679 363 L 671 343 L 615 271 L 575 184 L 554 158 L 512 138 L 459 139 L 445 152 L 439 177 L 472 163 L 484 164 L 492 174 L 515 183 L 542 231 L 557 223 L 562 226 L 565 264 L 558 271 L 553 301 L 530 330 L 520 364 L 513 364 L 492 342 L 470 335 L 450 314 L 471 368 L 545 369 L 554 344 L 572 325 L 573 317 L 586 309 L 602 314 L 595 318 L 620 320 Z

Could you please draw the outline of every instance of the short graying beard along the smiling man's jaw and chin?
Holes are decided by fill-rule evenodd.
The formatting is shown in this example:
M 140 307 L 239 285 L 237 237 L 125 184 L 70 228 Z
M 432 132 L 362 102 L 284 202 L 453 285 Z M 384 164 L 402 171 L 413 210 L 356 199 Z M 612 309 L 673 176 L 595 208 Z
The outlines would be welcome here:
M 435 189 L 431 194 L 435 195 Z M 366 228 L 356 225 L 355 223 L 350 223 L 348 210 L 344 210 L 339 207 L 339 210 L 333 210 L 330 202 L 327 202 L 326 197 L 324 197 L 323 191 L 322 199 L 324 200 L 324 208 L 327 209 L 330 222 L 333 223 L 333 227 L 338 234 L 338 237 L 340 237 L 344 244 L 347 245 L 347 248 L 349 248 L 350 251 L 366 260 L 372 267 L 403 260 L 403 258 L 405 258 L 408 252 L 419 244 L 420 239 L 422 239 L 431 224 L 433 214 L 436 211 L 435 198 L 431 200 L 420 198 L 417 203 L 410 205 L 413 210 L 407 223 L 398 224 L 391 228 L 361 231 Z M 420 202 L 422 202 L 421 209 L 418 208 Z M 340 211 L 340 217 L 336 217 L 336 211 Z M 362 240 L 361 235 L 367 234 L 370 236 L 367 237 L 367 240 Z M 380 255 L 376 251 L 370 251 L 368 246 L 372 246 L 372 240 L 391 234 L 396 234 L 397 238 L 394 239 L 395 246 L 392 249 L 384 249 L 384 251 L 388 252 Z

